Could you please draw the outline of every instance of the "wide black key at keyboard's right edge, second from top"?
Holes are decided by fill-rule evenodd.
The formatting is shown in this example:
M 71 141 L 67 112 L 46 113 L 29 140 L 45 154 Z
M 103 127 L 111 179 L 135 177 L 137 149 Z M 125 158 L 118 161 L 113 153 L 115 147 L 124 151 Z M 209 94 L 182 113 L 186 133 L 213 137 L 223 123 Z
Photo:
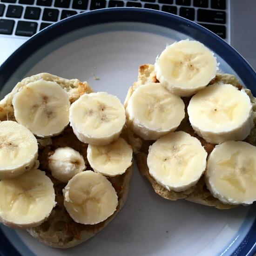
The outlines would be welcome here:
M 197 20 L 203 22 L 210 22 L 210 23 L 226 23 L 226 13 L 222 11 L 211 11 L 211 10 L 204 10 L 198 9 L 197 10 Z

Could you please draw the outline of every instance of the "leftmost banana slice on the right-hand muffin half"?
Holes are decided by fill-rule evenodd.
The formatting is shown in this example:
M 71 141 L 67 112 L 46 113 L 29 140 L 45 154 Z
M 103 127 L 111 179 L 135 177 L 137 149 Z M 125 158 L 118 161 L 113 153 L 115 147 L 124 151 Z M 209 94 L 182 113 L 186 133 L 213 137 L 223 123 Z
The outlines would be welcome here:
M 128 125 L 144 140 L 156 140 L 180 125 L 185 116 L 182 99 L 159 83 L 139 86 L 126 108 Z

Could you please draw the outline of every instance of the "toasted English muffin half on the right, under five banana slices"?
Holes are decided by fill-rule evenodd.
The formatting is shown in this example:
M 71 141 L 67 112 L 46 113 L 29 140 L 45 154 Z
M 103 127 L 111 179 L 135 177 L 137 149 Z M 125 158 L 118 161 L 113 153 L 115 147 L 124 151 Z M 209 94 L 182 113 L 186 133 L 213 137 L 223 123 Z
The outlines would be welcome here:
M 138 86 L 143 85 L 147 82 L 159 82 L 156 79 L 154 65 L 152 64 L 144 64 L 144 65 L 141 65 L 141 67 L 139 67 L 138 81 L 134 82 L 134 84 L 128 90 L 128 94 L 125 100 L 125 108 L 127 107 L 127 102 L 131 97 L 131 95 L 133 94 L 133 92 L 135 91 L 135 89 Z M 239 83 L 239 81 L 236 79 L 236 77 L 231 74 L 217 74 L 216 77 L 210 82 L 210 84 L 215 82 L 232 84 L 233 86 L 236 86 L 239 90 L 243 88 Z M 253 104 L 254 123 L 256 123 L 256 98 L 252 96 L 250 90 L 245 89 L 245 92 L 249 95 L 251 102 Z M 189 123 L 189 116 L 187 113 L 189 100 L 190 98 L 183 98 L 183 101 L 186 106 L 185 108 L 186 114 L 185 114 L 185 118 L 183 119 L 182 123 L 177 128 L 177 130 L 185 131 L 190 135 L 197 137 L 200 140 L 202 146 L 205 148 L 205 150 L 209 154 L 214 149 L 215 145 L 206 142 L 204 139 L 202 139 L 201 137 L 195 134 L 193 128 Z M 135 135 L 135 133 L 131 129 L 129 129 L 129 127 L 128 127 L 128 141 L 133 147 L 133 150 L 135 153 L 135 159 L 141 175 L 145 176 L 148 179 L 148 181 L 151 183 L 153 189 L 158 195 L 168 200 L 186 199 L 191 202 L 196 202 L 196 203 L 207 205 L 207 206 L 213 206 L 218 209 L 230 209 L 230 208 L 236 207 L 235 205 L 224 204 L 220 202 L 218 199 L 216 199 L 215 197 L 213 197 L 213 195 L 211 195 L 210 191 L 207 189 L 205 185 L 203 176 L 195 184 L 195 186 L 185 191 L 182 191 L 182 192 L 175 192 L 172 190 L 168 191 L 162 185 L 158 184 L 155 181 L 155 179 L 152 178 L 149 174 L 149 170 L 147 166 L 148 148 L 150 145 L 153 144 L 154 141 L 144 141 L 141 137 L 139 137 L 138 135 Z M 251 133 L 246 139 L 246 141 L 256 146 L 256 128 L 253 128 L 251 130 Z

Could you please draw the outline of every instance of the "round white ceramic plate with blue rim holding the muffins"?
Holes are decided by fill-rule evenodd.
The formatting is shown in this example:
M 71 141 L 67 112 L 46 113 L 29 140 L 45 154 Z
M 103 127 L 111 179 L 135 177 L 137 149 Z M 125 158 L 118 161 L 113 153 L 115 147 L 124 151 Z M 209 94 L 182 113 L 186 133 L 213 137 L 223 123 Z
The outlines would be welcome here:
M 256 74 L 225 41 L 181 17 L 146 9 L 111 8 L 75 15 L 29 39 L 0 67 L 1 98 L 26 76 L 49 72 L 88 81 L 124 101 L 137 69 L 154 63 L 166 44 L 199 40 L 256 95 Z M 94 80 L 95 74 L 100 80 Z M 245 256 L 256 251 L 256 205 L 218 210 L 153 192 L 136 165 L 128 200 L 115 219 L 86 243 L 52 249 L 25 230 L 1 227 L 3 255 Z

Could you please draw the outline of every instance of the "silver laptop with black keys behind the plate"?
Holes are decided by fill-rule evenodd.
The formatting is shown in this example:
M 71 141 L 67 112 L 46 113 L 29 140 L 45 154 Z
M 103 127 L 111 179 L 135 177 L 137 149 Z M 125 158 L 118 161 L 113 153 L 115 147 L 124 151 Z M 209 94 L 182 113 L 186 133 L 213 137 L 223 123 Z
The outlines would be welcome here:
M 193 20 L 226 40 L 256 70 L 255 0 L 0 0 L 0 65 L 54 22 L 108 7 L 150 8 Z

